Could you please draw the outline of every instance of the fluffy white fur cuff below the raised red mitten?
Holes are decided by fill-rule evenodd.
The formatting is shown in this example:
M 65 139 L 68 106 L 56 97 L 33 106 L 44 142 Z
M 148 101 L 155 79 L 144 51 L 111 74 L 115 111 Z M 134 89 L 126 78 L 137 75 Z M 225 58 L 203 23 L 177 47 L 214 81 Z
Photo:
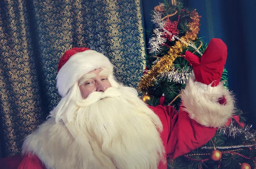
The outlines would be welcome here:
M 225 97 L 226 104 L 218 103 L 219 98 Z M 211 87 L 195 81 L 190 77 L 186 88 L 181 93 L 183 108 L 189 116 L 203 126 L 221 127 L 234 112 L 234 101 L 230 92 L 225 89 L 223 83 Z

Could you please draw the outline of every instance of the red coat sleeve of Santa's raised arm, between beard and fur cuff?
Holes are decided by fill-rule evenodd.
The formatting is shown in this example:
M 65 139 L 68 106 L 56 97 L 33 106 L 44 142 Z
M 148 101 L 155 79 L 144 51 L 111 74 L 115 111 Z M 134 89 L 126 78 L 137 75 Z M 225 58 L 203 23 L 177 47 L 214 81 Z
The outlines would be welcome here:
M 207 143 L 216 133 L 217 128 L 205 127 L 192 120 L 182 110 L 177 113 L 172 106 L 149 106 L 163 123 L 161 138 L 169 158 L 176 158 L 195 150 Z

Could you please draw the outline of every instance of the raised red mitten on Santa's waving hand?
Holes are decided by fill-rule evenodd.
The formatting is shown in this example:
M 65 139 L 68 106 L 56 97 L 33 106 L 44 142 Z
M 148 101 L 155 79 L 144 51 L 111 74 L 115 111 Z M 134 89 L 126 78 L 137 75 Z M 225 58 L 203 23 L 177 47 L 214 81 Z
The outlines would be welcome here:
M 227 60 L 227 46 L 221 39 L 211 39 L 201 58 L 189 51 L 185 55 L 193 67 L 196 81 L 207 85 L 213 82 L 212 87 L 218 85 Z

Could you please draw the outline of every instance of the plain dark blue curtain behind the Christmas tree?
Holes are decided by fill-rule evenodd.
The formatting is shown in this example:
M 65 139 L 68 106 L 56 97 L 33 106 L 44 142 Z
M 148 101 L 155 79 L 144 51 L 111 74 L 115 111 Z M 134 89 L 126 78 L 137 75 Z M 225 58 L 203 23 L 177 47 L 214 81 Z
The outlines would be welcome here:
M 152 27 L 151 10 L 163 0 L 142 0 L 145 29 Z M 233 91 L 236 105 L 244 112 L 247 123 L 256 129 L 256 1 L 255 0 L 183 0 L 184 7 L 197 9 L 201 15 L 200 34 L 209 43 L 211 38 L 221 38 L 227 44 L 225 68 L 229 72 L 229 89 Z M 146 41 L 148 36 L 146 34 Z

